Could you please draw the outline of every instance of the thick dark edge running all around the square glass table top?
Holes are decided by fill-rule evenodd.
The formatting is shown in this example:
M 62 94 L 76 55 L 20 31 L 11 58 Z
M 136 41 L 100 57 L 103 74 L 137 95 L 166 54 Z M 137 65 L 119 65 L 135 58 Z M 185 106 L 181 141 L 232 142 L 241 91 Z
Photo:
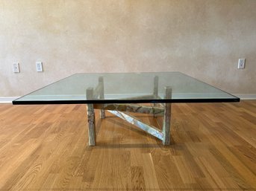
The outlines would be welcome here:
M 198 82 L 202 82 L 201 80 L 198 80 L 194 77 L 190 77 L 187 74 L 181 73 L 180 71 L 172 71 L 175 73 L 180 73 L 184 76 L 187 76 L 193 80 L 196 80 Z M 150 74 L 150 73 L 156 73 L 156 72 L 131 72 L 131 73 L 76 73 L 76 74 Z M 169 72 L 159 72 L 159 73 L 169 73 Z M 56 82 L 52 82 L 49 85 L 53 85 L 54 83 L 60 82 L 61 80 L 65 80 L 66 78 L 72 77 L 76 74 L 69 75 L 68 77 L 64 77 L 60 80 L 57 80 Z M 209 85 L 213 88 L 213 85 L 207 84 L 206 82 L 202 82 L 205 85 Z M 39 91 L 40 89 L 46 88 L 46 85 L 42 88 L 38 88 L 35 91 Z M 26 97 L 29 94 L 34 93 L 35 91 L 31 91 L 29 94 L 25 94 L 22 97 L 17 98 L 16 100 L 13 100 L 13 105 L 43 105 L 43 104 L 93 104 L 93 103 L 230 103 L 230 102 L 240 102 L 240 98 L 234 96 L 233 94 L 230 94 L 226 91 L 223 91 L 220 88 L 216 88 L 219 91 L 222 91 L 225 94 L 229 94 L 231 97 L 222 97 L 222 98 L 181 98 L 181 99 L 140 99 L 140 100 L 119 100 L 119 99 L 113 99 L 113 100 L 19 100 L 22 97 Z

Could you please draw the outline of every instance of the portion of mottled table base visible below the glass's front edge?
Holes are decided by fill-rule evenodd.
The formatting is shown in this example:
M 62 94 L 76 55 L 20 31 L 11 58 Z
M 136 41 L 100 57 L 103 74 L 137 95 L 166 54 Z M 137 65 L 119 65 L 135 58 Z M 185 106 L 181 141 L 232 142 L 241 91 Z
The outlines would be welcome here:
M 104 111 L 107 110 L 111 114 L 115 114 L 122 120 L 137 126 L 150 135 L 157 137 L 163 141 L 164 145 L 169 145 L 170 142 L 170 119 L 171 119 L 171 104 L 165 103 L 163 107 L 150 107 L 150 106 L 138 106 L 133 104 L 87 104 L 88 125 L 89 125 L 89 145 L 96 145 L 96 133 L 95 133 L 95 113 L 94 109 L 101 109 L 101 118 L 105 117 Z M 151 126 L 143 123 L 142 120 L 137 117 L 128 114 L 128 112 L 153 114 L 154 117 L 163 116 L 163 129 Z

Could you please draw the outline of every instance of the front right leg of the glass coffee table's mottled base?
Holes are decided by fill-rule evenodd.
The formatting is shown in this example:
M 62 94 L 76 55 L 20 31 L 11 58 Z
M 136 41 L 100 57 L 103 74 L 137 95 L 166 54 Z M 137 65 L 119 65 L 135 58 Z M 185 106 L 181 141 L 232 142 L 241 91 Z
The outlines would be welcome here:
M 172 98 L 172 88 L 166 87 L 165 88 L 165 98 L 171 99 Z M 170 125 L 171 125 L 171 103 L 164 104 L 164 116 L 163 116 L 163 144 L 169 145 L 170 143 Z

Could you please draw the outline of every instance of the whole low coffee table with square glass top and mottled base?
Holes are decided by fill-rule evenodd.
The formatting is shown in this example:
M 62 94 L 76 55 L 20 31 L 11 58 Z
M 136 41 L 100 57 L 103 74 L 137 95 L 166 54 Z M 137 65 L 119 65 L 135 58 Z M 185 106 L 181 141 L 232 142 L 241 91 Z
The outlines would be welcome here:
M 13 105 L 87 104 L 90 146 L 96 145 L 94 109 L 101 110 L 102 119 L 104 112 L 110 111 L 169 145 L 172 103 L 239 101 L 240 98 L 181 72 L 147 72 L 73 74 L 13 100 Z M 151 103 L 152 106 L 143 103 Z M 163 127 L 158 129 L 143 123 L 130 113 L 161 116 Z

